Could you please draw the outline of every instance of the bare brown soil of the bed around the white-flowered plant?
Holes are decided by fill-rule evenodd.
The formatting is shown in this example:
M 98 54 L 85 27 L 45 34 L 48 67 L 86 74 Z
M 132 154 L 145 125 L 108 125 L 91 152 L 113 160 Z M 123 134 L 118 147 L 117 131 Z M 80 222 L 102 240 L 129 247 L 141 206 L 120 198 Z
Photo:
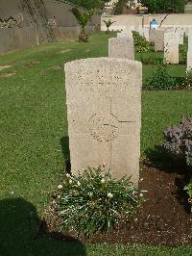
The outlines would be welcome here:
M 121 224 L 108 235 L 95 235 L 92 243 L 137 243 L 145 245 L 192 245 L 192 214 L 184 197 L 186 184 L 180 171 L 161 170 L 153 166 L 144 166 L 140 171 L 139 188 L 146 190 L 143 209 L 135 217 L 134 223 Z M 54 220 L 56 201 L 53 200 L 44 222 L 46 232 L 58 234 L 59 221 Z M 73 239 L 75 234 L 68 234 Z M 57 235 L 59 239 L 69 237 Z

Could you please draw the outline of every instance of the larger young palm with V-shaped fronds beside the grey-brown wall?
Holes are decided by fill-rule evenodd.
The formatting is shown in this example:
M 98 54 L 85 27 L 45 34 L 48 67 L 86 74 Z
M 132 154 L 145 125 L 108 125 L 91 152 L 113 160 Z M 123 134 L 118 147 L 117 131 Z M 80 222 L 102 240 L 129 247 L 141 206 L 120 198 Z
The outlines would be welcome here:
M 73 8 L 71 12 L 74 14 L 74 16 L 77 19 L 78 24 L 81 26 L 81 33 L 79 35 L 79 41 L 80 42 L 87 42 L 88 41 L 88 35 L 85 32 L 85 26 L 87 22 L 91 19 L 94 11 L 87 11 L 85 13 L 81 13 L 77 8 Z

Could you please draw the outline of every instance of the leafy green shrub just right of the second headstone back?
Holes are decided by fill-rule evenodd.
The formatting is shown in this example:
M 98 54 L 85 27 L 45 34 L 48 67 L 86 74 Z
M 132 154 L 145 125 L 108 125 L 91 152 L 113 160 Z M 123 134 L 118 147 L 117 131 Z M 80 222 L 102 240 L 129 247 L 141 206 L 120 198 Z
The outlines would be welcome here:
M 138 53 L 146 53 L 150 51 L 150 42 L 146 38 L 139 35 L 138 32 L 132 32 L 134 45 L 137 46 L 136 50 Z

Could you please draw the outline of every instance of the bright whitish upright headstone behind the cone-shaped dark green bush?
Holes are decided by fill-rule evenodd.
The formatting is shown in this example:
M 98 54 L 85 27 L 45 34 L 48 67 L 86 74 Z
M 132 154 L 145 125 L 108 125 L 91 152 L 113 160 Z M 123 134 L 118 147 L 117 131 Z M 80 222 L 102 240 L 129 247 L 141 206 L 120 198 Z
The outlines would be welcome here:
M 179 64 L 179 33 L 164 34 L 164 59 L 168 64 Z

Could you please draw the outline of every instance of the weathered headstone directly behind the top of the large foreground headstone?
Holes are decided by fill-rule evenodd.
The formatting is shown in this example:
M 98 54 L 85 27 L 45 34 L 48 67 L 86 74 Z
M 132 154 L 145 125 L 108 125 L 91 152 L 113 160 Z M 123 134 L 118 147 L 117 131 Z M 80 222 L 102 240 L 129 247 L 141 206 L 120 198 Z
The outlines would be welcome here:
M 134 45 L 132 38 L 109 38 L 108 57 L 134 60 Z

